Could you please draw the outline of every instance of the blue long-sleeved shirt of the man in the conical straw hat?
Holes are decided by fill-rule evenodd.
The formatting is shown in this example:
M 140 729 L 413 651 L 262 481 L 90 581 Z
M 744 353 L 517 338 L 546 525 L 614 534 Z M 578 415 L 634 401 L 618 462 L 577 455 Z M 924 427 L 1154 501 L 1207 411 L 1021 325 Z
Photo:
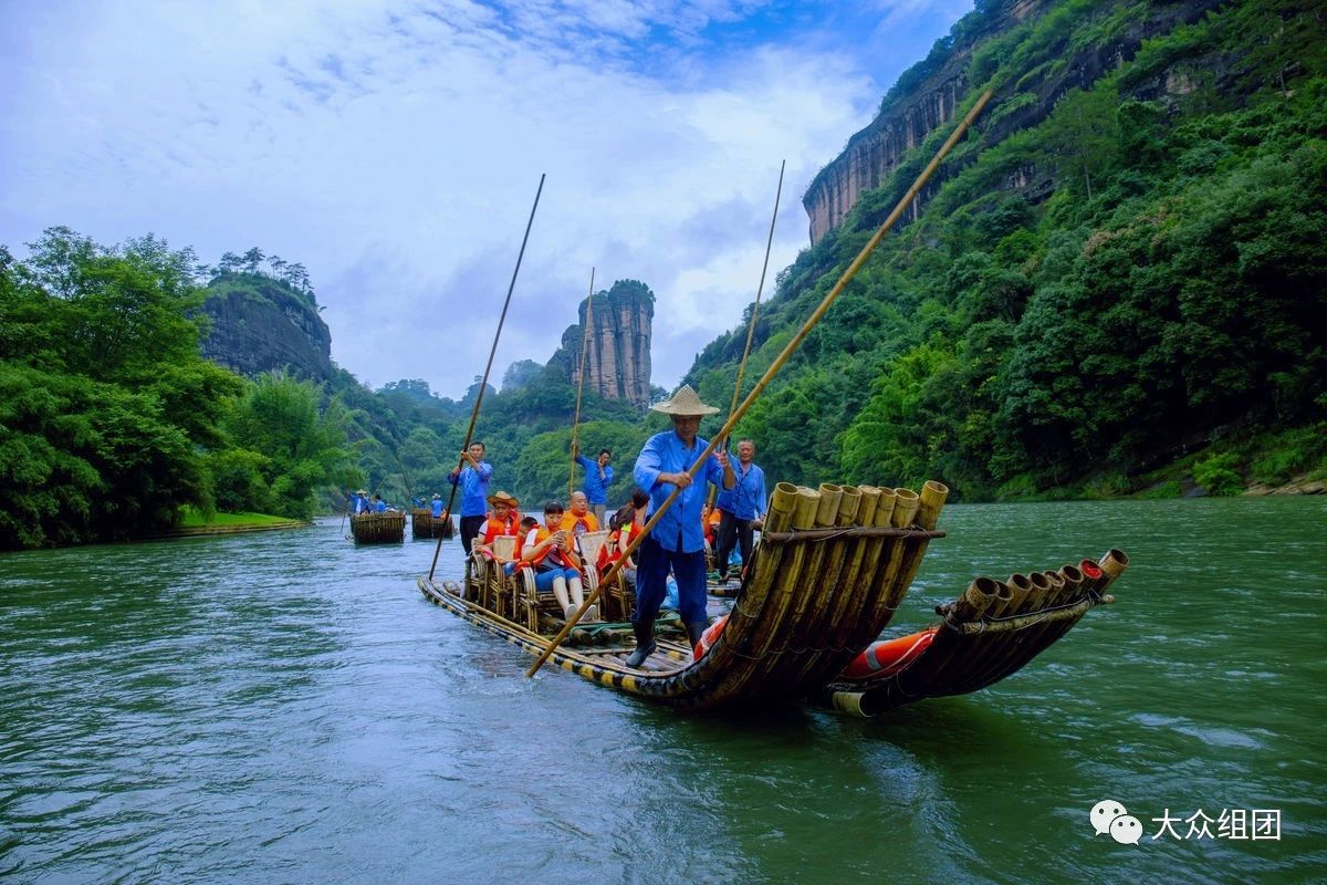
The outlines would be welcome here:
M 695 459 L 709 443 L 699 437 L 691 448 L 682 446 L 677 431 L 665 430 L 645 441 L 640 458 L 636 459 L 633 476 L 636 484 L 650 494 L 650 508 L 646 519 L 673 494 L 675 486 L 658 482 L 660 474 L 681 474 L 691 468 Z M 723 467 L 719 459 L 710 455 L 709 463 L 697 474 L 695 482 L 682 490 L 673 506 L 664 513 L 650 531 L 660 547 L 681 553 L 695 553 L 705 549 L 705 529 L 701 527 L 701 508 L 709 496 L 705 484 L 710 482 L 723 488 Z

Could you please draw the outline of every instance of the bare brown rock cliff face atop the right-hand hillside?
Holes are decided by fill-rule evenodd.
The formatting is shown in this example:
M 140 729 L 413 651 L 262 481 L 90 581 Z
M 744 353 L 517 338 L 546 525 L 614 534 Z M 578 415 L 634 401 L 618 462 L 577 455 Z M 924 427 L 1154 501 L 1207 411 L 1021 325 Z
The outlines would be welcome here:
M 950 36 L 938 41 L 925 61 L 898 78 L 898 84 L 881 102 L 876 119 L 849 138 L 843 153 L 811 182 L 802 204 L 811 222 L 812 244 L 836 228 L 865 191 L 884 184 L 910 149 L 949 123 L 971 89 L 989 86 L 995 90 L 995 98 L 986 107 L 977 129 L 983 147 L 997 145 L 1010 134 L 1042 122 L 1064 93 L 1087 88 L 1133 58 L 1148 37 L 1168 33 L 1178 24 L 1197 21 L 1221 3 L 1222 0 L 1153 3 L 1147 7 L 1145 16 L 1115 16 L 1116 20 L 1111 16 L 1119 4 L 1100 3 L 1093 15 L 1101 17 L 1103 28 L 1109 28 L 1111 33 L 1100 42 L 1055 48 L 1062 53 L 1060 60 L 1046 70 L 1038 70 L 1038 77 L 1024 78 L 1030 84 L 986 82 L 986 69 L 994 64 L 998 53 L 998 48 L 990 45 L 990 38 L 1016 29 L 1031 32 L 1038 28 L 1043 16 L 1058 12 L 1056 8 L 1066 4 L 1056 0 L 978 3 L 977 11 L 959 20 Z M 991 57 L 974 57 L 982 52 Z M 1180 93 L 1185 89 L 1182 80 L 1177 80 L 1172 72 L 1156 84 L 1139 84 L 1136 92 L 1147 97 Z M 957 163 L 942 167 L 913 202 L 904 220 L 914 219 L 941 182 L 958 169 Z M 1007 184 L 1011 188 L 1030 190 L 1030 196 L 1035 198 L 1044 183 L 1035 172 L 1031 169 L 1013 170 Z

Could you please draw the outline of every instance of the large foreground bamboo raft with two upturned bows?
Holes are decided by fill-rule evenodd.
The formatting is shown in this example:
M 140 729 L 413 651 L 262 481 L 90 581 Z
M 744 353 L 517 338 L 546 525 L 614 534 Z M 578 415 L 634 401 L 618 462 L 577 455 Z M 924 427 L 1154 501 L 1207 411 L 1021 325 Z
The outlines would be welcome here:
M 843 713 L 874 715 L 922 698 L 975 691 L 1024 666 L 1063 637 L 1128 563 L 1112 551 L 1100 567 L 977 579 L 941 621 L 898 647 L 881 649 L 881 632 L 908 593 L 949 490 L 779 483 L 739 596 L 726 620 L 691 649 L 681 630 L 657 638 L 640 667 L 626 624 L 580 625 L 549 658 L 625 694 L 685 710 L 804 699 Z M 591 547 L 602 533 L 583 536 Z M 511 556 L 516 539 L 495 545 Z M 564 625 L 552 594 L 535 589 L 529 568 L 512 575 L 476 548 L 462 582 L 419 579 L 437 605 L 532 655 Z M 593 561 L 593 551 L 587 551 Z M 597 575 L 588 569 L 588 588 Z M 625 621 L 632 592 L 605 588 L 605 613 Z M 664 624 L 664 622 L 661 622 Z M 705 647 L 707 646 L 707 647 Z M 914 647 L 916 646 L 916 647 Z M 906 655 L 902 654 L 913 649 Z M 699 657 L 697 653 L 699 651 Z M 865 657 L 864 657 L 865 655 Z

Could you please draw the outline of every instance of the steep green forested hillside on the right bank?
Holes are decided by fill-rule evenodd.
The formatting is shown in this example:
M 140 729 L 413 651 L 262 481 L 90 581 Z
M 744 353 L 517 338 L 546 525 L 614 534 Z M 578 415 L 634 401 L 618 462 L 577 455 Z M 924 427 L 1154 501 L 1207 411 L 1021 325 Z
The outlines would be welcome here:
M 969 499 L 1322 475 L 1323 7 L 1218 5 L 1010 131 L 1066 56 L 1173 4 L 1066 0 L 973 45 L 998 5 L 900 81 L 959 62 L 958 115 L 982 89 L 995 102 L 739 433 L 779 479 L 938 478 Z M 779 273 L 747 386 L 951 129 Z M 736 328 L 697 358 L 705 398 L 731 395 L 743 342 Z

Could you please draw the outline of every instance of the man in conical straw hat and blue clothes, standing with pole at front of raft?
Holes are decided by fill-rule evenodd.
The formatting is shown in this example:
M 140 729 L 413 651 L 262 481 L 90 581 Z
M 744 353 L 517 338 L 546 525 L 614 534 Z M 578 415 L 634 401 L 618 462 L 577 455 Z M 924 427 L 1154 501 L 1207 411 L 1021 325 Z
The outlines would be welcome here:
M 687 472 L 709 446 L 697 437 L 701 418 L 715 414 L 718 409 L 701 402 L 690 385 L 682 385 L 670 399 L 650 409 L 671 417 L 673 430 L 645 441 L 645 447 L 636 459 L 636 484 L 650 495 L 648 519 L 674 488 L 682 491 L 637 548 L 636 613 L 632 614 L 636 650 L 626 658 L 626 665 L 632 667 L 641 666 L 654 651 L 654 618 L 658 617 L 660 604 L 667 592 L 670 569 L 677 577 L 679 613 L 686 624 L 687 638 L 693 646 L 701 641 L 701 634 L 709 626 L 705 613 L 705 535 L 701 531 L 706 483 L 725 490 L 736 484 L 736 475 L 723 451 L 710 455 L 697 474 L 699 482 L 693 483 Z

